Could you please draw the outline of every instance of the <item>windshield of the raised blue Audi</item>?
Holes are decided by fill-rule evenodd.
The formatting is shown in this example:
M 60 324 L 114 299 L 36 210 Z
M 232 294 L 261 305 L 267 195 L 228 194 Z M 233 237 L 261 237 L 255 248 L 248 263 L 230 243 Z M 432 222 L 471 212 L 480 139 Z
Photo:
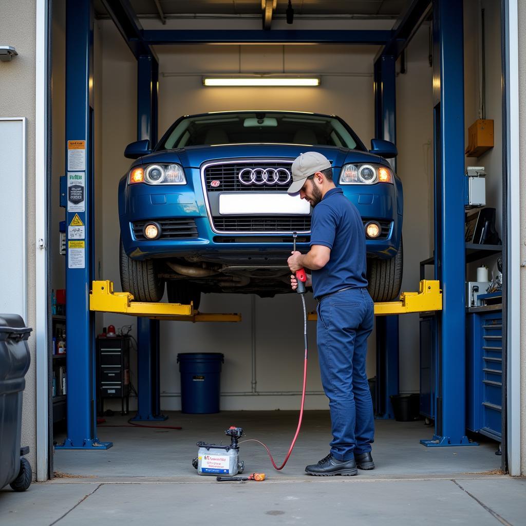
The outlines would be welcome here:
M 285 112 L 240 112 L 179 119 L 168 130 L 157 150 L 255 143 L 363 149 L 353 131 L 335 117 Z

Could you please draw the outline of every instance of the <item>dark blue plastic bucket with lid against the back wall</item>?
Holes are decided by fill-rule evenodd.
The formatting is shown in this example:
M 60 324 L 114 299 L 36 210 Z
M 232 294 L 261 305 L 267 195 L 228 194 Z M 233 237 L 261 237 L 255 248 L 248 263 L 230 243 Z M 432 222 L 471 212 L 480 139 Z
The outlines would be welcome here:
M 181 373 L 181 411 L 218 413 L 219 379 L 224 356 L 220 352 L 182 352 L 177 355 Z

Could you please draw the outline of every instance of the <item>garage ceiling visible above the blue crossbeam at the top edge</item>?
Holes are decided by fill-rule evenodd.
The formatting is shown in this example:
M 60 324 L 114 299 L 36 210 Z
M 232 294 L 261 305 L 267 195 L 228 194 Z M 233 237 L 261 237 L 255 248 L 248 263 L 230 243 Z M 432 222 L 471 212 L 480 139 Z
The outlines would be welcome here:
M 365 16 L 394 18 L 404 11 L 410 0 L 291 0 L 295 16 Z M 261 0 L 130 0 L 139 18 L 159 17 L 161 11 L 167 18 L 177 15 L 218 14 L 221 16 L 261 16 Z M 107 17 L 100 0 L 95 0 L 97 17 Z M 288 0 L 277 0 L 275 17 L 284 17 Z

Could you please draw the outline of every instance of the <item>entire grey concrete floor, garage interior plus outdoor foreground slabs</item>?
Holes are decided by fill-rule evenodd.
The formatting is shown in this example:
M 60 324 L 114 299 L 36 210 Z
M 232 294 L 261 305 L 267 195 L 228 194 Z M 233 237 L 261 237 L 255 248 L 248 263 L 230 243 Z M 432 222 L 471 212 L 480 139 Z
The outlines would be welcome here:
M 215 526 L 319 524 L 330 520 L 360 526 L 434 524 L 526 524 L 526 480 L 498 476 L 494 442 L 477 447 L 424 448 L 432 429 L 423 422 L 377 421 L 373 454 L 377 469 L 357 477 L 309 477 L 307 463 L 328 452 L 329 417 L 305 414 L 294 453 L 283 472 L 266 452 L 242 444 L 246 471 L 265 471 L 264 482 L 222 482 L 199 477 L 191 467 L 195 442 L 226 441 L 231 424 L 247 439 L 268 444 L 281 461 L 296 429 L 296 412 L 170 413 L 166 425 L 181 430 L 99 427 L 107 451 L 56 451 L 58 477 L 34 483 L 25 493 L 0 491 L 0 524 L 92 526 L 94 523 Z M 123 417 L 108 418 L 122 425 Z M 160 424 L 163 425 L 163 424 Z M 58 438 L 58 437 L 57 437 Z

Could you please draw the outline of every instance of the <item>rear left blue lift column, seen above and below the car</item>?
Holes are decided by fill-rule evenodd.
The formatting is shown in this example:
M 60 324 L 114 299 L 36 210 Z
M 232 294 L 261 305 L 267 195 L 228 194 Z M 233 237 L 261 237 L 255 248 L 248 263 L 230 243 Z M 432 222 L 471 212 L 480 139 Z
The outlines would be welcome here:
M 159 63 L 153 55 L 137 57 L 137 140 L 157 144 Z M 159 320 L 137 318 L 137 414 L 131 420 L 159 421 Z

